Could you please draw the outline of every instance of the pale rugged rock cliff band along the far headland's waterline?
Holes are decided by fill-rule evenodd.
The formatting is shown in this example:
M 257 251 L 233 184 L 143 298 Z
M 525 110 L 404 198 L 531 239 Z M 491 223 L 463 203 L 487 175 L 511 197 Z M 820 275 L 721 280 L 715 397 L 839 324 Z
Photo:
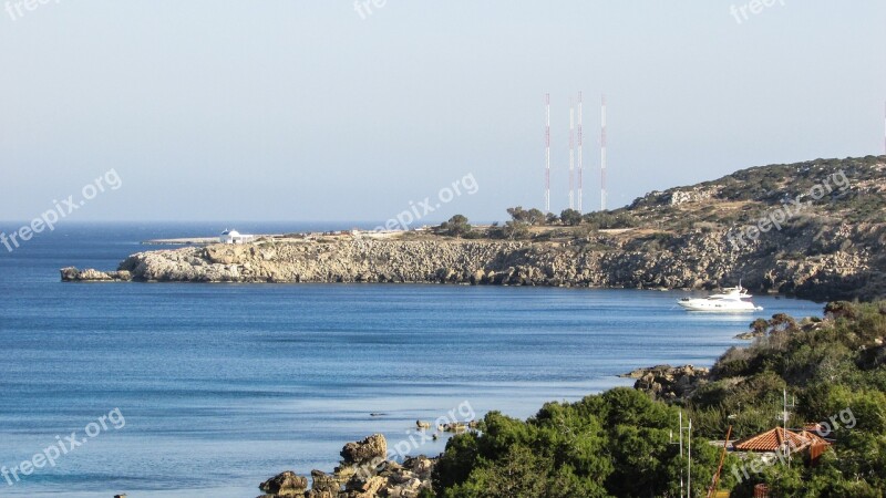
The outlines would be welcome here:
M 373 240 L 340 235 L 318 240 L 212 245 L 144 251 L 116 271 L 61 270 L 62 281 L 367 282 L 715 289 L 739 278 L 755 292 L 813 300 L 882 293 L 874 255 L 835 251 L 784 259 L 730 251 L 725 234 L 693 232 L 652 249 L 641 234 L 595 234 L 557 241 Z M 841 237 L 828 236 L 835 243 Z

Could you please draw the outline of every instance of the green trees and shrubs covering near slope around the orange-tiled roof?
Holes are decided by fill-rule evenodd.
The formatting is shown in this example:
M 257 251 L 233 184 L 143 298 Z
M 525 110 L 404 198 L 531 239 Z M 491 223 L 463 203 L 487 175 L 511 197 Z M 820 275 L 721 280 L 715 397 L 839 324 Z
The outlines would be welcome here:
M 444 498 L 676 497 L 686 458 L 673 444 L 678 405 L 693 419 L 692 496 L 705 496 L 719 450 L 707 439 L 773 428 L 782 393 L 795 405 L 789 426 L 830 424 L 833 450 L 815 466 L 797 457 L 748 478 L 725 460 L 720 489 L 773 497 L 886 496 L 886 302 L 828 304 L 824 320 L 779 315 L 755 323 L 764 335 L 732 349 L 710 382 L 671 404 L 616 388 L 577 403 L 548 403 L 528 421 L 490 413 L 481 432 L 452 438 L 434 474 Z M 852 415 L 849 419 L 848 415 Z M 792 425 L 793 424 L 793 425 Z

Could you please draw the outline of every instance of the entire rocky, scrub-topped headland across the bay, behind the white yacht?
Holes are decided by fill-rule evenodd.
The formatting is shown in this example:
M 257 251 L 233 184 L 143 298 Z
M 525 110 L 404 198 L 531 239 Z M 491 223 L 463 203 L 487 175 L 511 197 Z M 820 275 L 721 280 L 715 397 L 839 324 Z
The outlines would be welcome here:
M 643 289 L 742 284 L 814 300 L 886 294 L 886 156 L 742 169 L 559 216 L 511 208 L 431 230 L 288 234 L 138 252 L 62 280 L 426 282 Z

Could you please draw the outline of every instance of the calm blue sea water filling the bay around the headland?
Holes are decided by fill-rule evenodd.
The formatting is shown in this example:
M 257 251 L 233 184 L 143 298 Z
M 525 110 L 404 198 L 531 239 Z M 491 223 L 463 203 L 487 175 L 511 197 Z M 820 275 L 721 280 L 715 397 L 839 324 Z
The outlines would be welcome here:
M 63 266 L 113 269 L 153 248 L 142 240 L 220 228 L 68 224 L 0 247 L 0 466 L 123 416 L 54 467 L 0 477 L 0 496 L 254 497 L 278 471 L 331 470 L 344 443 L 393 444 L 460 405 L 526 417 L 629 385 L 615 375 L 637 366 L 709 365 L 754 318 L 686 313 L 682 292 L 59 281 Z M 755 302 L 761 317 L 822 309 Z

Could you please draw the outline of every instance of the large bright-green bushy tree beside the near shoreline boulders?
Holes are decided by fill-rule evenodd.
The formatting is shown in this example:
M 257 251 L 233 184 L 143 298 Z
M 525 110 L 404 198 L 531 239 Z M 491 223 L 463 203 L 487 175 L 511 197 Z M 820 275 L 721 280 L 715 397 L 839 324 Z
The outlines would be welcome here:
M 449 442 L 434 487 L 453 498 L 673 496 L 687 465 L 672 444 L 676 426 L 673 408 L 631 388 L 548 403 L 525 422 L 492 412 L 480 434 Z M 718 458 L 693 438 L 700 481 L 710 481 Z

